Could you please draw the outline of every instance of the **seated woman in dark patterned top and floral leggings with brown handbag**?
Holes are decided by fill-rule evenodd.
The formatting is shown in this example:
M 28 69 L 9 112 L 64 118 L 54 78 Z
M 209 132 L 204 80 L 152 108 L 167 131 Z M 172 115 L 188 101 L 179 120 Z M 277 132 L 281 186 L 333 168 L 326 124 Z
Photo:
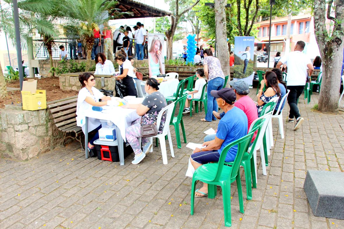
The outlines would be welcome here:
M 143 150 L 141 149 L 139 142 L 139 138 L 141 138 L 141 125 L 157 124 L 159 112 L 167 106 L 165 97 L 159 92 L 159 85 L 156 79 L 149 78 L 144 87 L 148 96 L 144 98 L 143 102 L 122 106 L 123 108 L 136 109 L 136 113 L 141 116 L 141 118 L 133 121 L 131 126 L 126 129 L 126 138 L 135 152 L 134 160 L 131 162 L 133 164 L 140 163 L 152 146 L 148 138 L 142 138 Z M 162 116 L 160 127 L 157 127 L 158 133 L 162 132 L 164 125 L 165 116 Z M 169 125 L 169 123 L 166 123 L 166 125 Z

